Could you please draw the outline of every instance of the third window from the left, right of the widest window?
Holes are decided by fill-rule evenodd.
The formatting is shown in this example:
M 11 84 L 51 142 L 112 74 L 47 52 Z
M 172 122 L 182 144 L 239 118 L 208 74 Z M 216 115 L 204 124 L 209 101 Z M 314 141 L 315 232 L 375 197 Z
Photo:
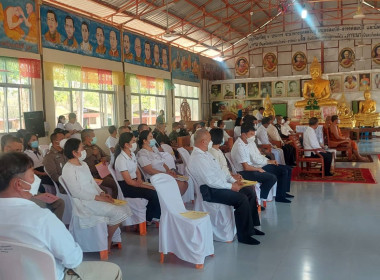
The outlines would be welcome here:
M 160 110 L 166 112 L 166 91 L 163 80 L 131 76 L 132 124 L 156 124 Z

